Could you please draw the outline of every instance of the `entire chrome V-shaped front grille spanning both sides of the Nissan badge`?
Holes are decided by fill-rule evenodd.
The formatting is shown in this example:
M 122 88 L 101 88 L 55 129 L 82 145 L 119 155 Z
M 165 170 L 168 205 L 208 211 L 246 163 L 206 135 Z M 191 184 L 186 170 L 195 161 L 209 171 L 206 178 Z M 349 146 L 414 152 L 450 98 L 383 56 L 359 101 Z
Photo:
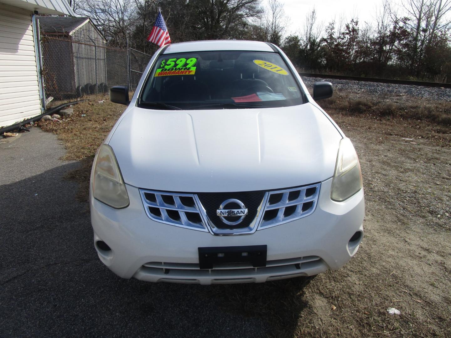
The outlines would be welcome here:
M 206 199 L 204 196 L 207 193 L 188 194 L 145 189 L 139 189 L 139 191 L 147 216 L 157 222 L 205 232 L 209 231 L 215 235 L 238 235 L 254 233 L 256 230 L 270 228 L 312 214 L 318 202 L 320 187 L 321 183 L 316 183 L 304 187 L 269 192 L 228 192 L 224 193 L 224 196 L 213 196 L 217 197 L 217 201 L 210 203 L 211 205 L 207 203 L 211 198 Z M 211 194 L 222 195 L 220 193 Z M 255 215 L 252 215 L 249 224 L 245 224 L 243 228 L 228 228 L 225 223 L 218 226 L 218 220 L 211 219 L 209 213 L 216 213 L 221 201 L 234 194 L 248 194 L 255 195 L 255 198 L 258 197 L 258 201 L 253 203 L 255 204 L 253 206 Z M 202 199 L 199 197 L 202 197 Z M 250 202 L 246 200 L 246 203 Z M 206 210 L 206 207 L 208 210 Z

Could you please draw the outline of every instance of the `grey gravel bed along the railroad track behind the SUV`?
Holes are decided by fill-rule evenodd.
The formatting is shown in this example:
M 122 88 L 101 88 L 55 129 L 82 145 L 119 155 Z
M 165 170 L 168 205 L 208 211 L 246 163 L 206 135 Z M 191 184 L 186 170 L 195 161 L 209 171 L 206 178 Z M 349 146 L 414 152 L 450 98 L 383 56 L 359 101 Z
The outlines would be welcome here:
M 412 97 L 427 100 L 451 101 L 451 89 L 440 87 L 421 87 L 410 85 L 399 85 L 392 83 L 350 81 L 338 79 L 307 78 L 302 77 L 307 88 L 312 88 L 313 83 L 318 81 L 329 81 L 334 89 L 352 92 L 352 98 L 368 96 L 378 97 L 384 101 L 405 101 Z

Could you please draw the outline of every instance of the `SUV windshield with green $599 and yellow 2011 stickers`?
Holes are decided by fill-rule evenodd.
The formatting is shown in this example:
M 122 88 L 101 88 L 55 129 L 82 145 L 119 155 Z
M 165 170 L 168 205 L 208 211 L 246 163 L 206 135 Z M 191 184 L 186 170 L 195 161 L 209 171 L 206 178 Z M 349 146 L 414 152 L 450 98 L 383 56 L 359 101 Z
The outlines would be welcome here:
M 280 55 L 206 51 L 160 55 L 138 105 L 150 109 L 267 108 L 302 103 Z

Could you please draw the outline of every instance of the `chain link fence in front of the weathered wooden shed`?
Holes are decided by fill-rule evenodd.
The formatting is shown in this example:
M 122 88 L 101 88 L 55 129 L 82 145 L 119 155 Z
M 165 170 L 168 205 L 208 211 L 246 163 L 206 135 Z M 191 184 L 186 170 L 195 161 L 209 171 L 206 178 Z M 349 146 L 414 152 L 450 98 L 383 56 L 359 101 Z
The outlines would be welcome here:
M 41 36 L 41 55 L 45 95 L 55 100 L 107 93 L 113 86 L 133 91 L 152 57 L 132 48 L 46 35 Z

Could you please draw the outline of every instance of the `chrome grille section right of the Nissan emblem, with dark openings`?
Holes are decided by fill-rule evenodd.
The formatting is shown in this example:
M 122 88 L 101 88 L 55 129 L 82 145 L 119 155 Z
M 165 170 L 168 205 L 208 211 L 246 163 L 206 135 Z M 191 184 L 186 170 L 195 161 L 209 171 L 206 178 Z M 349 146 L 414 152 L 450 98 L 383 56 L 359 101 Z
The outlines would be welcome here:
M 315 210 L 321 183 L 269 192 L 259 229 L 308 216 Z

